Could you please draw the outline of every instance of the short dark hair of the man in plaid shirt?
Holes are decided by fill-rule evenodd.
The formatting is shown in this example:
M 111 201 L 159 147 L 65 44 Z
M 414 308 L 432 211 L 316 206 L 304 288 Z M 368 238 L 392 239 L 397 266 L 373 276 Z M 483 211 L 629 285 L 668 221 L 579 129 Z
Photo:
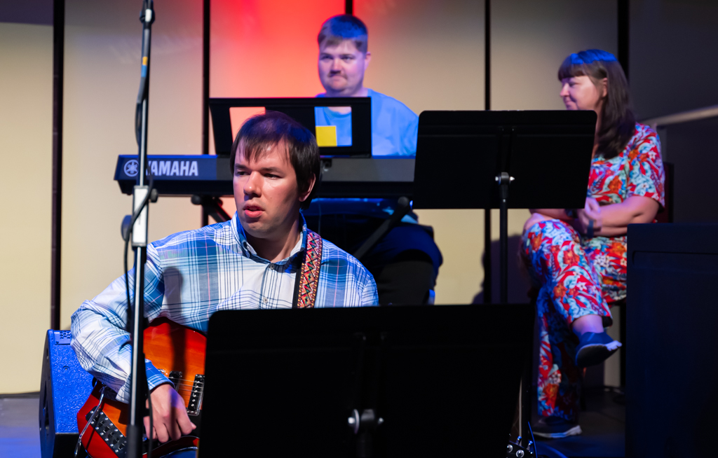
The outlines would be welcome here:
M 267 110 L 262 115 L 254 115 L 242 125 L 232 144 L 229 156 L 230 170 L 234 176 L 235 158 L 239 148 L 247 160 L 260 158 L 268 147 L 284 142 L 289 161 L 297 173 L 299 192 L 304 193 L 315 178 L 314 188 L 307 200 L 302 202 L 302 209 L 309 208 L 309 204 L 317 193 L 317 181 L 320 174 L 320 158 L 317 139 L 309 129 L 297 123 L 284 113 Z

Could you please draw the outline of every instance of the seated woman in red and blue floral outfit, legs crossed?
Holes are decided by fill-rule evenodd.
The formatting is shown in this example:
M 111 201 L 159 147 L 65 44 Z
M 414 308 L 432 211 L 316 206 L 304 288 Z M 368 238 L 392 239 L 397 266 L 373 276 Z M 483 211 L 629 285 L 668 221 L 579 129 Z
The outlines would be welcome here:
M 532 209 L 523 226 L 522 257 L 539 287 L 538 413 L 533 432 L 581 434 L 579 371 L 601 363 L 620 343 L 604 326 L 609 305 L 626 296 L 628 224 L 650 223 L 663 206 L 658 135 L 635 122 L 628 82 L 613 54 L 589 49 L 559 68 L 568 110 L 598 115 L 583 209 Z

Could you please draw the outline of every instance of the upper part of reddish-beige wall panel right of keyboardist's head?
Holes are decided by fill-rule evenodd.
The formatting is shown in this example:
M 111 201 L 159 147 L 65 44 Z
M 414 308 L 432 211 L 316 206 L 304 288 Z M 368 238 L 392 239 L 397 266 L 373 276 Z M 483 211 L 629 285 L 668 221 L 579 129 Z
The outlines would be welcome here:
M 471 0 L 358 0 L 369 30 L 365 86 L 424 110 L 483 110 L 484 5 Z

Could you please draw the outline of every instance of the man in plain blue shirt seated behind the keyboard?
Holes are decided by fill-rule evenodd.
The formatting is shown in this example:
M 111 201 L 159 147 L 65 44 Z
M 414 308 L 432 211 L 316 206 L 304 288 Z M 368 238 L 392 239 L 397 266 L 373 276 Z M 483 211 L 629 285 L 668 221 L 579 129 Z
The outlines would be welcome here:
M 371 97 L 372 156 L 415 156 L 419 117 L 393 97 L 364 87 L 371 60 L 365 24 L 350 14 L 333 16 L 322 24 L 317 42 L 319 77 L 326 90 L 317 97 Z M 351 142 L 348 107 L 314 111 L 317 125 L 336 126 L 337 145 Z M 389 199 L 317 199 L 304 216 L 323 237 L 355 252 L 391 215 L 395 204 Z M 405 216 L 360 259 L 376 279 L 380 304 L 429 302 L 442 255 L 432 229 L 416 220 L 416 214 Z

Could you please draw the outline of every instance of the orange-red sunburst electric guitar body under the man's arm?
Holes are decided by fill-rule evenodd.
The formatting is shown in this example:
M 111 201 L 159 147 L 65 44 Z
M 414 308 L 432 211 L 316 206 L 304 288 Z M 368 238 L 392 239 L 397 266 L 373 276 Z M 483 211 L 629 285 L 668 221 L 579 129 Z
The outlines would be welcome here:
M 152 361 L 154 367 L 174 383 L 175 390 L 185 400 L 190 420 L 197 425 L 199 425 L 197 421 L 199 421 L 204 393 L 206 348 L 205 335 L 166 318 L 154 320 L 144 330 L 145 358 Z M 100 404 L 103 387 L 102 383 L 97 383 L 88 400 L 78 411 L 80 433 Z M 100 406 L 100 412 L 95 415 L 92 424 L 88 425 L 82 436 L 83 446 L 90 457 L 123 458 L 126 454 L 128 422 L 129 404 L 108 399 L 106 396 Z M 153 447 L 152 456 L 162 457 L 164 454 L 180 449 L 197 447 L 198 443 L 197 436 L 183 436 L 177 441 Z M 159 442 L 154 441 L 153 444 Z

